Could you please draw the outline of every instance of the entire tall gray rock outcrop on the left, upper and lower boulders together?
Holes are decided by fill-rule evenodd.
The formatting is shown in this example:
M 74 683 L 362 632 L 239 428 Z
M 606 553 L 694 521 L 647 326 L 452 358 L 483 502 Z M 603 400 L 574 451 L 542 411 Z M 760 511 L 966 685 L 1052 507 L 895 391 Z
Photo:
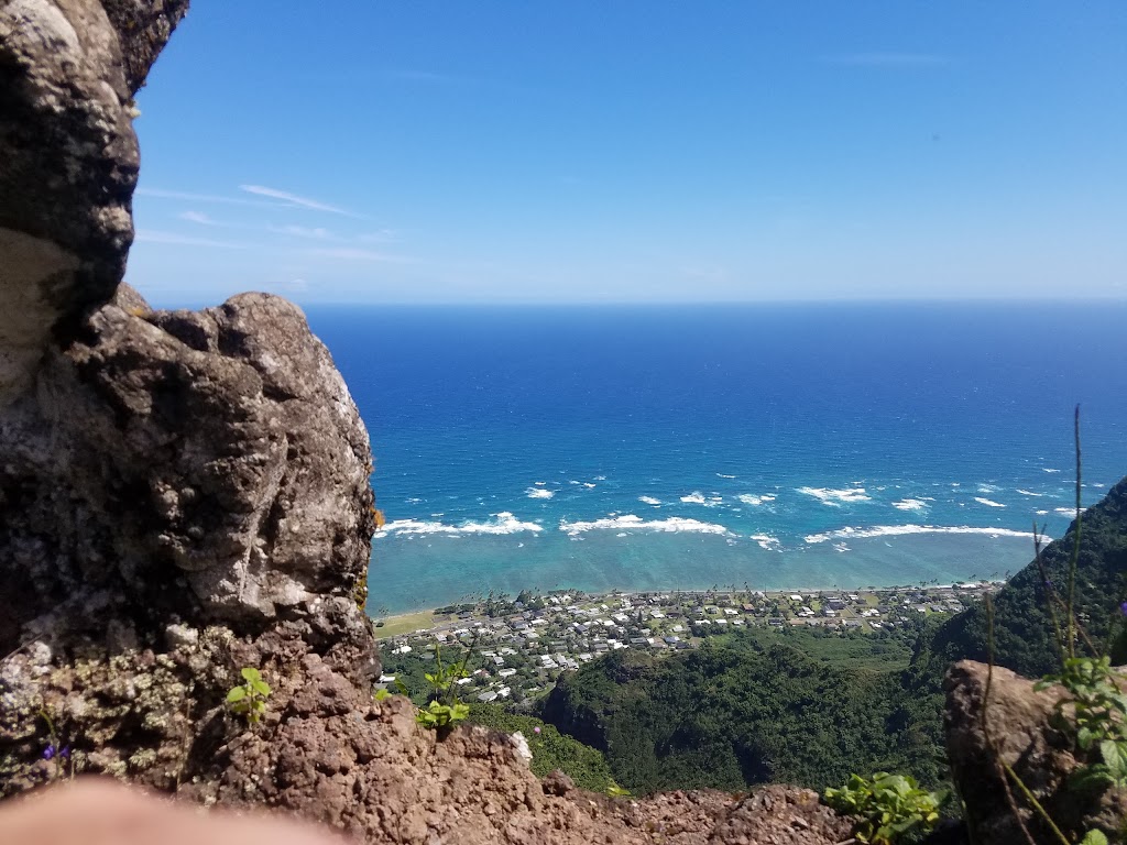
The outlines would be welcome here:
M 371 453 L 328 350 L 274 296 L 119 286 L 133 95 L 186 9 L 0 1 L 0 793 L 52 738 L 161 789 L 212 771 L 241 660 L 379 668 Z

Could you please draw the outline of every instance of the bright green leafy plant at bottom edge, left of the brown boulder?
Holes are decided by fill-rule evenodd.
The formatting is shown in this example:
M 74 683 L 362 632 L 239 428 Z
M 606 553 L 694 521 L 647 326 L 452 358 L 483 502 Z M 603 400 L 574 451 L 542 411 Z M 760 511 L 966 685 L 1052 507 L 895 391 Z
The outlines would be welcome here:
M 833 809 L 858 819 L 853 835 L 869 845 L 893 845 L 939 821 L 939 797 L 907 775 L 853 775 L 841 789 L 826 790 L 825 798 Z

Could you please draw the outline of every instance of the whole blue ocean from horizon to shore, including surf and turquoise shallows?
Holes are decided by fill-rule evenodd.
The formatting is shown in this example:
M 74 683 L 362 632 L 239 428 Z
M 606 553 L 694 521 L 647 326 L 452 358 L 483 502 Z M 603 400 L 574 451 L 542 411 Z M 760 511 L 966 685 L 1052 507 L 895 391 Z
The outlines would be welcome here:
M 1127 303 L 319 308 L 373 610 L 1003 576 L 1127 474 Z

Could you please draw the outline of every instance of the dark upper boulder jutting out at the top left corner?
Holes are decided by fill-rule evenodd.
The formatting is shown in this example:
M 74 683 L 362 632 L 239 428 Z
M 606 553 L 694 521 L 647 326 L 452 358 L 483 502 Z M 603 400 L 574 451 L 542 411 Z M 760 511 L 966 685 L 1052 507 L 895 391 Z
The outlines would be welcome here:
M 0 404 L 106 302 L 133 241 L 133 95 L 188 0 L 0 2 Z

